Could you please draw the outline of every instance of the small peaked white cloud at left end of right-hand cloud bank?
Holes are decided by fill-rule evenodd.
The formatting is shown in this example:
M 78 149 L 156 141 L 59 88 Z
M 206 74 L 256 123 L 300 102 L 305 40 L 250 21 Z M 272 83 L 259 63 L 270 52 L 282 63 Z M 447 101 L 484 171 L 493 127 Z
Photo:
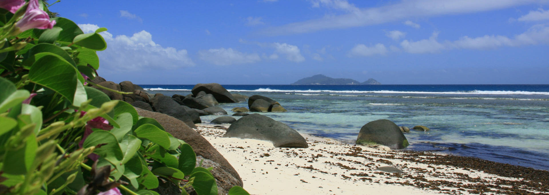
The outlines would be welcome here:
M 418 40 L 417 42 L 403 40 L 400 43 L 400 46 L 402 46 L 404 51 L 412 54 L 439 52 L 440 50 L 446 49 L 446 46 L 436 40 L 438 35 L 438 32 L 434 32 L 429 39 Z

